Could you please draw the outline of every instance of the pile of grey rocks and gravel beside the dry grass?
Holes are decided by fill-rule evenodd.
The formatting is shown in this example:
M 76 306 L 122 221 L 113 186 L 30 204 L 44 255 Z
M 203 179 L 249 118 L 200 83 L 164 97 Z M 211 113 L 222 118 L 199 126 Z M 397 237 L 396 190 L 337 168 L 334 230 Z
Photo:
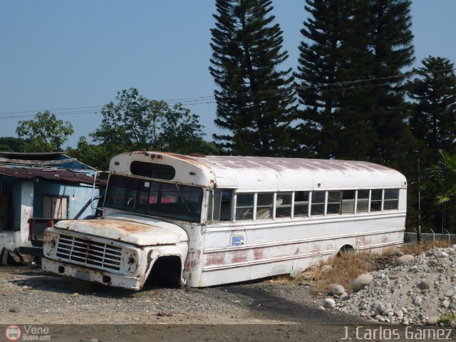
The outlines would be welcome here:
M 417 257 L 403 255 L 394 266 L 358 276 L 352 294 L 331 285 L 320 310 L 335 309 L 403 325 L 456 324 L 456 244 Z

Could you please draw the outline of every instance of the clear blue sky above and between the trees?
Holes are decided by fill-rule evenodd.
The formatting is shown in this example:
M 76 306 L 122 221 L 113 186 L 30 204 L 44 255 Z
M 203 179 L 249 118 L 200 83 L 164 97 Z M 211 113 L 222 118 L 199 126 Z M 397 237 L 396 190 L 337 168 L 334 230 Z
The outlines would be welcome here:
M 273 4 L 289 51 L 284 68 L 295 68 L 304 0 Z M 16 136 L 18 120 L 30 120 L 17 115 L 100 106 L 125 88 L 162 100 L 212 95 L 214 9 L 212 0 L 0 0 L 0 136 Z M 413 1 L 416 66 L 429 55 L 456 62 L 455 14 L 455 0 Z M 210 139 L 217 130 L 214 103 L 188 108 Z M 31 113 L 4 119 L 23 111 Z M 73 124 L 67 145 L 74 146 L 98 127 L 101 115 L 70 114 L 59 118 Z

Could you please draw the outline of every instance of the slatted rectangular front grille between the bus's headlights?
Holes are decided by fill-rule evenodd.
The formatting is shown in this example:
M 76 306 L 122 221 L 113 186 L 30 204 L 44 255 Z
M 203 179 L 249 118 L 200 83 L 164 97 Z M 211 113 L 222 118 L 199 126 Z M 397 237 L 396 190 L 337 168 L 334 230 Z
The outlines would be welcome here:
M 81 237 L 60 235 L 57 243 L 58 258 L 96 268 L 120 270 L 122 248 Z

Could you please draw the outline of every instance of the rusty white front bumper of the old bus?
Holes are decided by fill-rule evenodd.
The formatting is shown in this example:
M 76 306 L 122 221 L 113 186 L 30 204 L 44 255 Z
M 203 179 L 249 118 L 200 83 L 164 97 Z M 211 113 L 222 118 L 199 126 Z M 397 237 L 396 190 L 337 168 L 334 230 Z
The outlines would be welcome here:
M 139 290 L 141 288 L 139 277 L 110 274 L 106 271 L 87 269 L 85 267 L 66 264 L 64 262 L 53 261 L 46 258 L 41 260 L 41 268 L 45 271 L 60 274 L 61 276 L 69 276 L 80 280 L 93 281 L 95 283 L 108 286 L 133 290 Z

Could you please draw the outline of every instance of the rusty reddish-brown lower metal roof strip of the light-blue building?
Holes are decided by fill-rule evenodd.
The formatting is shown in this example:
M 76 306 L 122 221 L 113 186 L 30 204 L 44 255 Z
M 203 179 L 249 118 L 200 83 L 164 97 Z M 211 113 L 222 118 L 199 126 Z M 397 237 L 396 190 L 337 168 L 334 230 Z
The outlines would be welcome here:
M 52 180 L 59 183 L 84 183 L 93 185 L 93 177 L 82 172 L 55 168 L 36 168 L 36 167 L 6 167 L 0 166 L 0 175 L 21 179 Z M 106 187 L 106 180 L 97 179 L 98 187 Z

